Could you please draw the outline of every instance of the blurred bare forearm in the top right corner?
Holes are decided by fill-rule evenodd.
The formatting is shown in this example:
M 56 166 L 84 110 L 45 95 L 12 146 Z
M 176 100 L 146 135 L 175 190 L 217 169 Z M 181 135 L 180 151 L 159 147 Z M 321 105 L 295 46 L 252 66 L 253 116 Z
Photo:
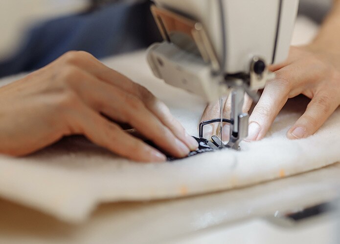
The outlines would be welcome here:
M 340 53 L 340 0 L 334 0 L 331 12 L 311 45 L 317 49 Z

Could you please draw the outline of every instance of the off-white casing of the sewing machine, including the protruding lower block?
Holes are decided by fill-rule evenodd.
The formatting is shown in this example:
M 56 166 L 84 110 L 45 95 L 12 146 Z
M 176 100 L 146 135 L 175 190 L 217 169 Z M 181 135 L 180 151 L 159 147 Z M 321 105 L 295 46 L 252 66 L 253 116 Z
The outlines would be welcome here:
M 150 66 L 156 76 L 167 83 L 200 95 L 208 101 L 216 100 L 221 92 L 226 92 L 225 89 L 221 90 L 218 87 L 219 79 L 210 75 L 211 71 L 221 69 L 224 74 L 249 74 L 250 63 L 254 57 L 260 57 L 266 64 L 279 63 L 287 58 L 298 0 L 222 0 L 222 12 L 219 0 L 155 0 L 155 2 L 162 9 L 171 10 L 193 20 L 194 24 L 202 24 L 207 41 L 211 44 L 210 47 L 206 47 L 208 44 L 204 43 L 205 48 L 212 50 L 204 51 L 202 50 L 204 47 L 198 47 L 201 55 L 193 55 L 187 50 L 181 50 L 179 45 L 172 45 L 169 41 L 173 40 L 171 37 L 167 40 L 166 35 L 174 35 L 175 31 L 180 32 L 179 29 L 169 26 L 172 20 L 166 22 L 156 16 L 160 29 L 165 29 L 161 30 L 165 41 L 150 48 Z M 223 23 L 221 14 L 224 14 Z M 172 21 L 172 24 L 177 23 Z M 164 33 L 165 31 L 168 33 Z M 187 34 L 189 39 L 192 39 L 195 37 L 192 31 L 181 34 Z M 193 41 L 197 44 L 196 40 Z M 217 60 L 213 60 L 214 57 L 205 58 L 204 56 L 209 56 L 204 54 L 207 52 L 213 52 L 212 55 L 215 55 Z M 161 57 L 164 66 L 159 65 L 157 57 Z M 171 64 L 176 67 L 171 67 Z M 224 67 L 218 67 L 221 64 Z M 197 76 L 197 79 L 192 79 L 192 76 Z M 254 85 L 252 89 L 256 90 L 263 86 L 262 82 Z

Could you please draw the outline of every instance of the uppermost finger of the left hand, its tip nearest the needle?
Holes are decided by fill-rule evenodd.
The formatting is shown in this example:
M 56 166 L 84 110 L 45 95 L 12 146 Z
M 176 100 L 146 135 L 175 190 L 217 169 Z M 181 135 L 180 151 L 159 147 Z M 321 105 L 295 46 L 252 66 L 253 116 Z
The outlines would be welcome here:
M 151 92 L 143 86 L 131 81 L 126 76 L 107 67 L 91 54 L 78 52 L 78 55 L 84 56 L 83 59 L 69 57 L 70 62 L 82 67 L 84 70 L 95 76 L 99 80 L 105 81 L 113 86 L 119 87 L 122 90 L 139 97 L 146 105 L 146 107 L 156 115 L 156 117 L 167 126 L 171 132 L 191 150 L 198 148 L 198 142 L 189 136 L 184 128 L 181 126 L 170 113 L 166 105 L 160 102 Z

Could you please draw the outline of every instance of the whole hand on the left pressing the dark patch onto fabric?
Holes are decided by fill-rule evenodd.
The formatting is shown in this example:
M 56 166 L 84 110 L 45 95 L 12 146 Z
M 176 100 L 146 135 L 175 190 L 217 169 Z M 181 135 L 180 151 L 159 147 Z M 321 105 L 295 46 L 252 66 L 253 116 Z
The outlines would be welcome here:
M 132 160 L 165 161 L 164 154 L 123 131 L 119 123 L 130 124 L 175 157 L 198 147 L 164 103 L 85 52 L 69 52 L 0 88 L 2 154 L 26 155 L 64 136 L 83 134 Z

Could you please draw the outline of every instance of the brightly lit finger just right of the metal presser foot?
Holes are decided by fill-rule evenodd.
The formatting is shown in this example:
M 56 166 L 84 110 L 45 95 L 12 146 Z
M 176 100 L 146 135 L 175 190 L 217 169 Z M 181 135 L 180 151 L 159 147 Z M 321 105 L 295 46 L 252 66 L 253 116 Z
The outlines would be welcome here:
M 268 81 L 259 102 L 249 117 L 249 133 L 246 141 L 261 140 L 288 100 L 290 85 L 281 79 Z

